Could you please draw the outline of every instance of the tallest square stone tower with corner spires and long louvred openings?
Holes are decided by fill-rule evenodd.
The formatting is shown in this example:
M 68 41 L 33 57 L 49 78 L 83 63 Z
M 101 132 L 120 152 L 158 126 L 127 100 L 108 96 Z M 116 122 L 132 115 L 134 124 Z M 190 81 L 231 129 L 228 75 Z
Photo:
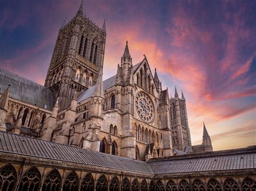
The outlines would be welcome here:
M 71 104 L 75 91 L 94 86 L 103 67 L 106 41 L 102 29 L 83 15 L 83 2 L 76 16 L 60 28 L 44 86 L 55 90 L 59 110 Z

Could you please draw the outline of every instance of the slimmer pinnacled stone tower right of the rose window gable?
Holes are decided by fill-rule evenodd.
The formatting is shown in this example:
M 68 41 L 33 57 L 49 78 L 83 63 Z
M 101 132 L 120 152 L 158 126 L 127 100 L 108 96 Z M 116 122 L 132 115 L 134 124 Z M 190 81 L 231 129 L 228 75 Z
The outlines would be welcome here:
M 175 87 L 174 97 L 171 98 L 170 101 L 173 148 L 179 151 L 185 151 L 184 148 L 186 148 L 186 152 L 188 152 L 188 150 L 192 151 L 185 97 L 182 93 L 180 99 Z

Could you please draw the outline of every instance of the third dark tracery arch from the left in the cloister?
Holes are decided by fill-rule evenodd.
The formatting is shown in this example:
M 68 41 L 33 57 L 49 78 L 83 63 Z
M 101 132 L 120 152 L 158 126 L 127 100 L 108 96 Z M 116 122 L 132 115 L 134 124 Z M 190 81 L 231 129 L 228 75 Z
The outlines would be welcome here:
M 57 169 L 53 169 L 45 178 L 42 191 L 57 191 L 62 185 L 62 177 Z

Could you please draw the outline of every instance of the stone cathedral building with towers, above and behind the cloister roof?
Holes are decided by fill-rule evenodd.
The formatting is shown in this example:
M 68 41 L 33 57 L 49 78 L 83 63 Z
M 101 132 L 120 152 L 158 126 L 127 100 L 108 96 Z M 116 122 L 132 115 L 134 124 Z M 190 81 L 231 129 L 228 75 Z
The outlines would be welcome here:
M 127 41 L 117 74 L 102 80 L 105 41 L 105 21 L 93 24 L 82 3 L 59 30 L 44 87 L 1 70 L 0 129 L 144 161 L 212 151 L 205 125 L 191 145 L 183 93 L 163 90 L 145 55 L 133 65 Z

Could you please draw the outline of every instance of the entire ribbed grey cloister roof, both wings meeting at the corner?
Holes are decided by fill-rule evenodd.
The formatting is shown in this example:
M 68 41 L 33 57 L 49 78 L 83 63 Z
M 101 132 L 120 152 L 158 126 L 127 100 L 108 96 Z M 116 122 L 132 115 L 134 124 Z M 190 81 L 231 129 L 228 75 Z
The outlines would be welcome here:
M 256 168 L 256 148 L 150 159 L 147 162 L 0 132 L 0 153 L 75 162 L 146 174 L 233 171 Z

